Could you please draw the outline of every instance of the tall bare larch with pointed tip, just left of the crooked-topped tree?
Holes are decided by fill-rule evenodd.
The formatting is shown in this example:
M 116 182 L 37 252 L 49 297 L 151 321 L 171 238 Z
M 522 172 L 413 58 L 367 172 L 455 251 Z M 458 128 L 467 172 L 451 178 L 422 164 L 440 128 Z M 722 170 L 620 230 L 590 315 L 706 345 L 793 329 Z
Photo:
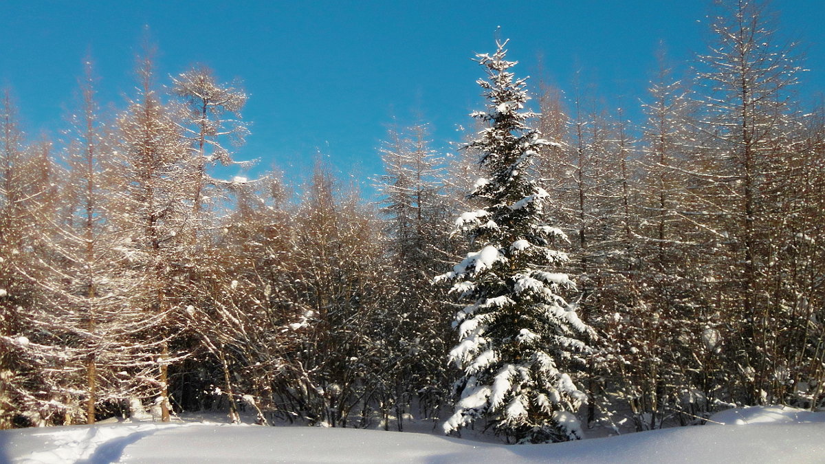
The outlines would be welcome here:
M 134 378 L 166 422 L 168 368 L 177 358 L 169 348 L 175 334 L 171 328 L 179 321 L 176 315 L 183 302 L 175 276 L 183 273 L 184 240 L 191 235 L 186 200 L 194 188 L 191 164 L 186 163 L 187 140 L 155 88 L 153 66 L 152 50 L 147 50 L 138 60 L 138 97 L 117 121 L 120 190 L 113 207 L 120 215 L 112 220 L 128 238 L 123 249 L 130 261 L 123 272 L 133 273 L 137 291 L 131 307 L 140 308 L 143 315 L 137 322 L 142 327 L 131 333 L 144 355 L 134 366 L 139 369 Z

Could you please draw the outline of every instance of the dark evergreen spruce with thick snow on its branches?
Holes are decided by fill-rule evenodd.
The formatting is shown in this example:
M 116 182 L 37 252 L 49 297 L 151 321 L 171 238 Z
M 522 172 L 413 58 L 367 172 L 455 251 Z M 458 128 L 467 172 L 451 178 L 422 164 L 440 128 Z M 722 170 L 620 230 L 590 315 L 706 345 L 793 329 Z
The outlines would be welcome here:
M 505 59 L 507 40 L 497 45 L 492 56 L 478 55 L 488 103 L 472 116 L 487 127 L 466 146 L 478 151 L 487 176 L 470 193 L 480 208 L 460 215 L 454 231 L 477 251 L 436 277 L 455 280 L 450 291 L 468 303 L 456 315 L 460 343 L 450 352 L 464 371 L 460 400 L 444 430 L 486 418 L 517 443 L 581 438 L 573 412 L 587 395 L 564 370 L 583 363 L 584 339 L 595 334 L 559 295 L 573 283 L 553 272 L 568 258 L 551 245 L 566 237 L 544 222 L 548 194 L 530 177 L 536 151 L 550 142 L 527 125 L 535 113 L 524 110 L 526 79 L 509 72 L 516 62 Z

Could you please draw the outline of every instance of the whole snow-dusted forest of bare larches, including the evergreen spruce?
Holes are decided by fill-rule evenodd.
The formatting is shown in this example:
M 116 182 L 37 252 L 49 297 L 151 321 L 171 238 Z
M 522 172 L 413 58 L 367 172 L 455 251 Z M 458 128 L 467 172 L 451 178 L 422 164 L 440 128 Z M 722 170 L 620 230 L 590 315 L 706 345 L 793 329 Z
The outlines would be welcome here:
M 57 137 L 5 89 L 0 428 L 220 410 L 545 443 L 823 408 L 823 97 L 761 3 L 712 31 L 662 54 L 639 121 L 499 40 L 454 153 L 389 126 L 378 202 L 320 158 L 221 178 L 245 89 L 151 46 L 111 117 L 83 59 Z

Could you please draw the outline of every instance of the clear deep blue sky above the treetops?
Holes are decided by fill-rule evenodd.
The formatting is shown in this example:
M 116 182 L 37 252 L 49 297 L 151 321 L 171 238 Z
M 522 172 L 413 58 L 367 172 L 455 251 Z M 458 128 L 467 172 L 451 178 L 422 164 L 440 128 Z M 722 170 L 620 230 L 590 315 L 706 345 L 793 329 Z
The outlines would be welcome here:
M 457 139 L 483 102 L 470 59 L 511 39 L 520 75 L 571 88 L 573 73 L 611 107 L 638 107 L 663 41 L 676 64 L 706 50 L 705 0 L 176 1 L 0 0 L 0 86 L 9 86 L 26 130 L 57 134 L 91 50 L 101 99 L 122 106 L 144 26 L 164 76 L 207 64 L 243 80 L 252 135 L 239 159 L 261 159 L 300 177 L 320 151 L 344 173 L 380 173 L 376 147 L 391 116 L 420 113 L 436 146 Z M 780 37 L 802 41 L 811 69 L 801 92 L 825 89 L 825 1 L 774 0 Z M 167 83 L 168 79 L 162 78 Z M 806 97 L 808 100 L 812 97 Z M 254 174 L 254 173 L 252 173 Z M 368 181 L 366 181 L 368 182 Z

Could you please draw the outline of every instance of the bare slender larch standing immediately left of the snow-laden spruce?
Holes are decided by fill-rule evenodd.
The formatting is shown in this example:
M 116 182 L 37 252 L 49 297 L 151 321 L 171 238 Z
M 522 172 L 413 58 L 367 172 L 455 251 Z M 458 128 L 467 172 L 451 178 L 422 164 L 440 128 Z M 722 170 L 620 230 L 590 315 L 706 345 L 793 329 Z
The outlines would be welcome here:
M 384 194 L 381 211 L 392 260 L 394 301 L 383 318 L 388 347 L 382 360 L 386 388 L 381 404 L 385 418 L 394 409 L 401 429 L 413 400 L 427 416 L 437 415 L 446 400 L 442 358 L 447 315 L 441 310 L 443 295 L 432 289 L 431 276 L 441 267 L 450 241 L 443 226 L 448 206 L 441 187 L 441 159 L 429 147 L 427 125 L 413 125 L 406 131 L 393 126 L 388 135 L 380 150 L 386 173 L 379 188 Z M 389 420 L 384 424 L 389 428 Z

